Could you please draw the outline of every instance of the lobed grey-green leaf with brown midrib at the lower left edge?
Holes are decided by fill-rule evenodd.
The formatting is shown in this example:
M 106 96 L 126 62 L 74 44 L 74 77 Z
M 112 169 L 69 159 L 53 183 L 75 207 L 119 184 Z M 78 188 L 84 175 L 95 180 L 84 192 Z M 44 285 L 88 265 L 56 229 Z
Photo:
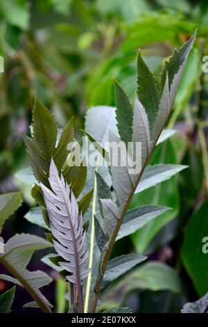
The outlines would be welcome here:
M 0 255 L 0 263 L 17 278 L 43 312 L 51 312 L 51 304 L 41 294 L 40 287 L 48 285 L 51 278 L 43 271 L 28 271 L 26 266 L 35 250 L 52 246 L 51 243 L 35 235 L 16 234 L 5 244 L 4 253 Z

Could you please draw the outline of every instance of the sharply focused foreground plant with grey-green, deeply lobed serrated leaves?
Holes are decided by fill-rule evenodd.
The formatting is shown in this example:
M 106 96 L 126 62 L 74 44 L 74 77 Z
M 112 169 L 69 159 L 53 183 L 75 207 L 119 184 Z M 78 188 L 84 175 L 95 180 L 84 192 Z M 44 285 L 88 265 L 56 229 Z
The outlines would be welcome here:
M 141 171 L 130 173 L 128 166 L 110 166 L 103 173 L 96 168 L 67 166 L 67 144 L 74 141 L 73 118 L 58 139 L 53 115 L 35 99 L 32 138 L 23 135 L 37 183 L 31 194 L 42 207 L 48 232 L 46 239 L 17 234 L 8 241 L 0 262 L 12 276 L 0 276 L 24 286 L 34 302 L 27 306 L 51 312 L 51 304 L 40 287 L 51 282 L 42 271 L 28 271 L 34 250 L 54 247 L 48 256 L 69 286 L 69 312 L 96 312 L 103 289 L 146 257 L 129 254 L 110 260 L 115 242 L 169 208 L 144 206 L 128 210 L 135 193 L 148 189 L 186 168 L 177 165 L 147 166 L 171 111 L 177 87 L 196 33 L 164 63 L 159 82 L 155 80 L 139 51 L 137 57 L 137 97 L 132 106 L 128 95 L 114 81 L 116 109 L 94 107 L 87 111 L 89 141 L 104 139 L 119 143 L 141 142 Z M 104 115 L 105 111 L 105 117 Z M 93 119 L 92 119 L 93 116 Z M 104 117 L 104 118 L 103 118 Z M 102 125 L 103 124 L 103 125 Z M 111 131 L 112 130 L 112 131 Z M 163 132 L 166 138 L 166 132 Z M 106 141 L 106 140 L 105 140 Z M 106 154 L 107 150 L 103 149 Z M 111 191 L 113 190 L 113 191 Z M 18 260 L 15 260 L 15 253 Z M 49 260 L 47 262 L 49 262 Z

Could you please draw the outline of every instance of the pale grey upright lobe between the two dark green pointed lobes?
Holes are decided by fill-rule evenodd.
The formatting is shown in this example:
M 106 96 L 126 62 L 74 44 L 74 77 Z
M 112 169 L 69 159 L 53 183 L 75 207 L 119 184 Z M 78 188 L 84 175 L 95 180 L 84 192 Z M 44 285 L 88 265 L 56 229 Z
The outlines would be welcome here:
M 146 111 L 138 99 L 135 99 L 133 120 L 133 142 L 141 142 L 141 168 L 150 154 L 150 129 Z M 137 156 L 134 158 L 137 159 Z

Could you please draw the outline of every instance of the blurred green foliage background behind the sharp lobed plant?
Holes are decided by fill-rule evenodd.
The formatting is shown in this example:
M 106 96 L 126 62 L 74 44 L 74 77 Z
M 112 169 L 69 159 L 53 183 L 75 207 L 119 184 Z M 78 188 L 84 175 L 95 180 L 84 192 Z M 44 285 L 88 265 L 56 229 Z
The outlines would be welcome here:
M 173 210 L 117 242 L 113 255 L 137 251 L 149 262 L 102 295 L 103 308 L 119 303 L 136 312 L 180 312 L 183 303 L 208 291 L 208 254 L 202 253 L 202 238 L 208 236 L 208 72 L 202 71 L 207 1 L 0 0 L 0 18 L 0 192 L 20 188 L 24 194 L 5 237 L 22 230 L 43 234 L 23 218 L 35 203 L 30 181 L 18 173 L 28 166 L 21 131 L 29 132 L 35 95 L 60 127 L 73 115 L 78 131 L 91 106 L 115 105 L 112 76 L 134 97 L 139 48 L 159 78 L 165 58 L 198 28 L 167 123 L 177 133 L 156 148 L 150 162 L 189 168 L 134 197 L 132 207 Z M 6 287 L 0 280 L 0 291 Z M 20 304 L 13 311 L 21 310 Z

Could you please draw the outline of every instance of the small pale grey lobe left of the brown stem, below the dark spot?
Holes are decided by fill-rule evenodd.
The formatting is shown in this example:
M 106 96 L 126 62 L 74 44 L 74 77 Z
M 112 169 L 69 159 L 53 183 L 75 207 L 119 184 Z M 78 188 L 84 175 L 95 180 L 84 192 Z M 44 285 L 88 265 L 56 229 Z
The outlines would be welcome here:
M 119 221 L 119 209 L 115 202 L 110 199 L 101 199 L 101 205 L 103 209 L 103 222 L 107 230 L 107 234 L 111 237 L 114 228 Z

